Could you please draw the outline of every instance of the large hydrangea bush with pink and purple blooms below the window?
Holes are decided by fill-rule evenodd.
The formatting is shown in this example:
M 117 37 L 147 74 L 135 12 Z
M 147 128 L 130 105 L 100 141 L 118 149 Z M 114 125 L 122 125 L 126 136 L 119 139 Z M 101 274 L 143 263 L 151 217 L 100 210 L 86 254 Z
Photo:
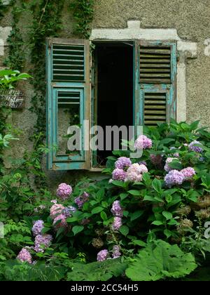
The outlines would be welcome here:
M 85 267 L 91 269 L 93 280 L 97 263 L 104 263 L 104 269 L 109 265 L 109 278 L 122 275 L 126 280 L 127 275 L 127 280 L 135 280 L 136 273 L 146 277 L 138 266 L 146 263 L 146 253 L 159 251 L 162 245 L 167 250 L 160 260 L 171 251 L 174 256 L 179 252 L 177 261 L 181 261 L 176 274 L 170 273 L 175 266 L 169 266 L 169 277 L 185 277 L 197 265 L 207 265 L 209 139 L 210 133 L 198 129 L 198 122 L 145 127 L 144 136 L 134 142 L 134 147 L 143 149 L 141 158 L 131 158 L 129 151 L 113 151 L 102 181 L 62 183 L 56 198 L 36 204 L 27 218 L 31 246 L 18 247 L 18 261 L 28 265 L 36 261 L 31 268 L 39 263 L 50 263 L 52 268 L 62 265 L 64 280 L 71 280 L 76 271 L 80 277 L 79 269 Z M 132 273 L 134 258 L 139 263 Z

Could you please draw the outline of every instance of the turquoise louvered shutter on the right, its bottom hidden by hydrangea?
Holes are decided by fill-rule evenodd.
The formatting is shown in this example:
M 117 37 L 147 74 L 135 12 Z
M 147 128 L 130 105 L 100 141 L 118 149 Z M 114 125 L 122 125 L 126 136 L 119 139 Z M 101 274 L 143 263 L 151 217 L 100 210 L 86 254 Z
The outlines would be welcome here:
M 139 41 L 136 56 L 137 124 L 176 119 L 176 42 Z

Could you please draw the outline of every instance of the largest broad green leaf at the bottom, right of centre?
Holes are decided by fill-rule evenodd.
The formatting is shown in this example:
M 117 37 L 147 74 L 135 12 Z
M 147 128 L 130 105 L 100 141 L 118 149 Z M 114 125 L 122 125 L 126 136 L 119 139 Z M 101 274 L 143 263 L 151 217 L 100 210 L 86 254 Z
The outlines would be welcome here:
M 191 253 L 184 253 L 175 244 L 158 240 L 139 251 L 125 274 L 132 281 L 158 281 L 167 277 L 185 277 L 197 268 Z

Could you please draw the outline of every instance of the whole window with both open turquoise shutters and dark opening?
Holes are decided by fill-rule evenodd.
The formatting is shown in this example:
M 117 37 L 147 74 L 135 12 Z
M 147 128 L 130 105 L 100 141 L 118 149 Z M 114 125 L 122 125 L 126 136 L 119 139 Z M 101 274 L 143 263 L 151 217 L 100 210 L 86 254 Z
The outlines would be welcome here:
M 110 152 L 88 148 L 93 125 L 105 130 L 176 119 L 176 42 L 95 41 L 94 45 L 90 68 L 90 41 L 47 40 L 47 136 L 48 146 L 57 147 L 48 155 L 48 169 L 90 170 L 103 165 Z M 75 150 L 68 149 L 72 125 L 80 127 Z

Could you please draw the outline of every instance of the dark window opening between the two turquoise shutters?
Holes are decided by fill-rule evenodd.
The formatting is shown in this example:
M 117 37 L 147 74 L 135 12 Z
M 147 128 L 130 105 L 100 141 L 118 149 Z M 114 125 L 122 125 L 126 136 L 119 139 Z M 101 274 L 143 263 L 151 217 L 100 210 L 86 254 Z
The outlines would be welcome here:
M 106 147 L 106 126 L 127 126 L 128 130 L 128 126 L 133 125 L 133 46 L 126 42 L 96 44 L 95 54 L 97 61 L 95 115 L 97 125 L 104 129 L 104 147 Z M 111 151 L 106 151 L 105 148 L 104 151 L 98 150 L 97 166 L 104 166 L 109 155 Z

